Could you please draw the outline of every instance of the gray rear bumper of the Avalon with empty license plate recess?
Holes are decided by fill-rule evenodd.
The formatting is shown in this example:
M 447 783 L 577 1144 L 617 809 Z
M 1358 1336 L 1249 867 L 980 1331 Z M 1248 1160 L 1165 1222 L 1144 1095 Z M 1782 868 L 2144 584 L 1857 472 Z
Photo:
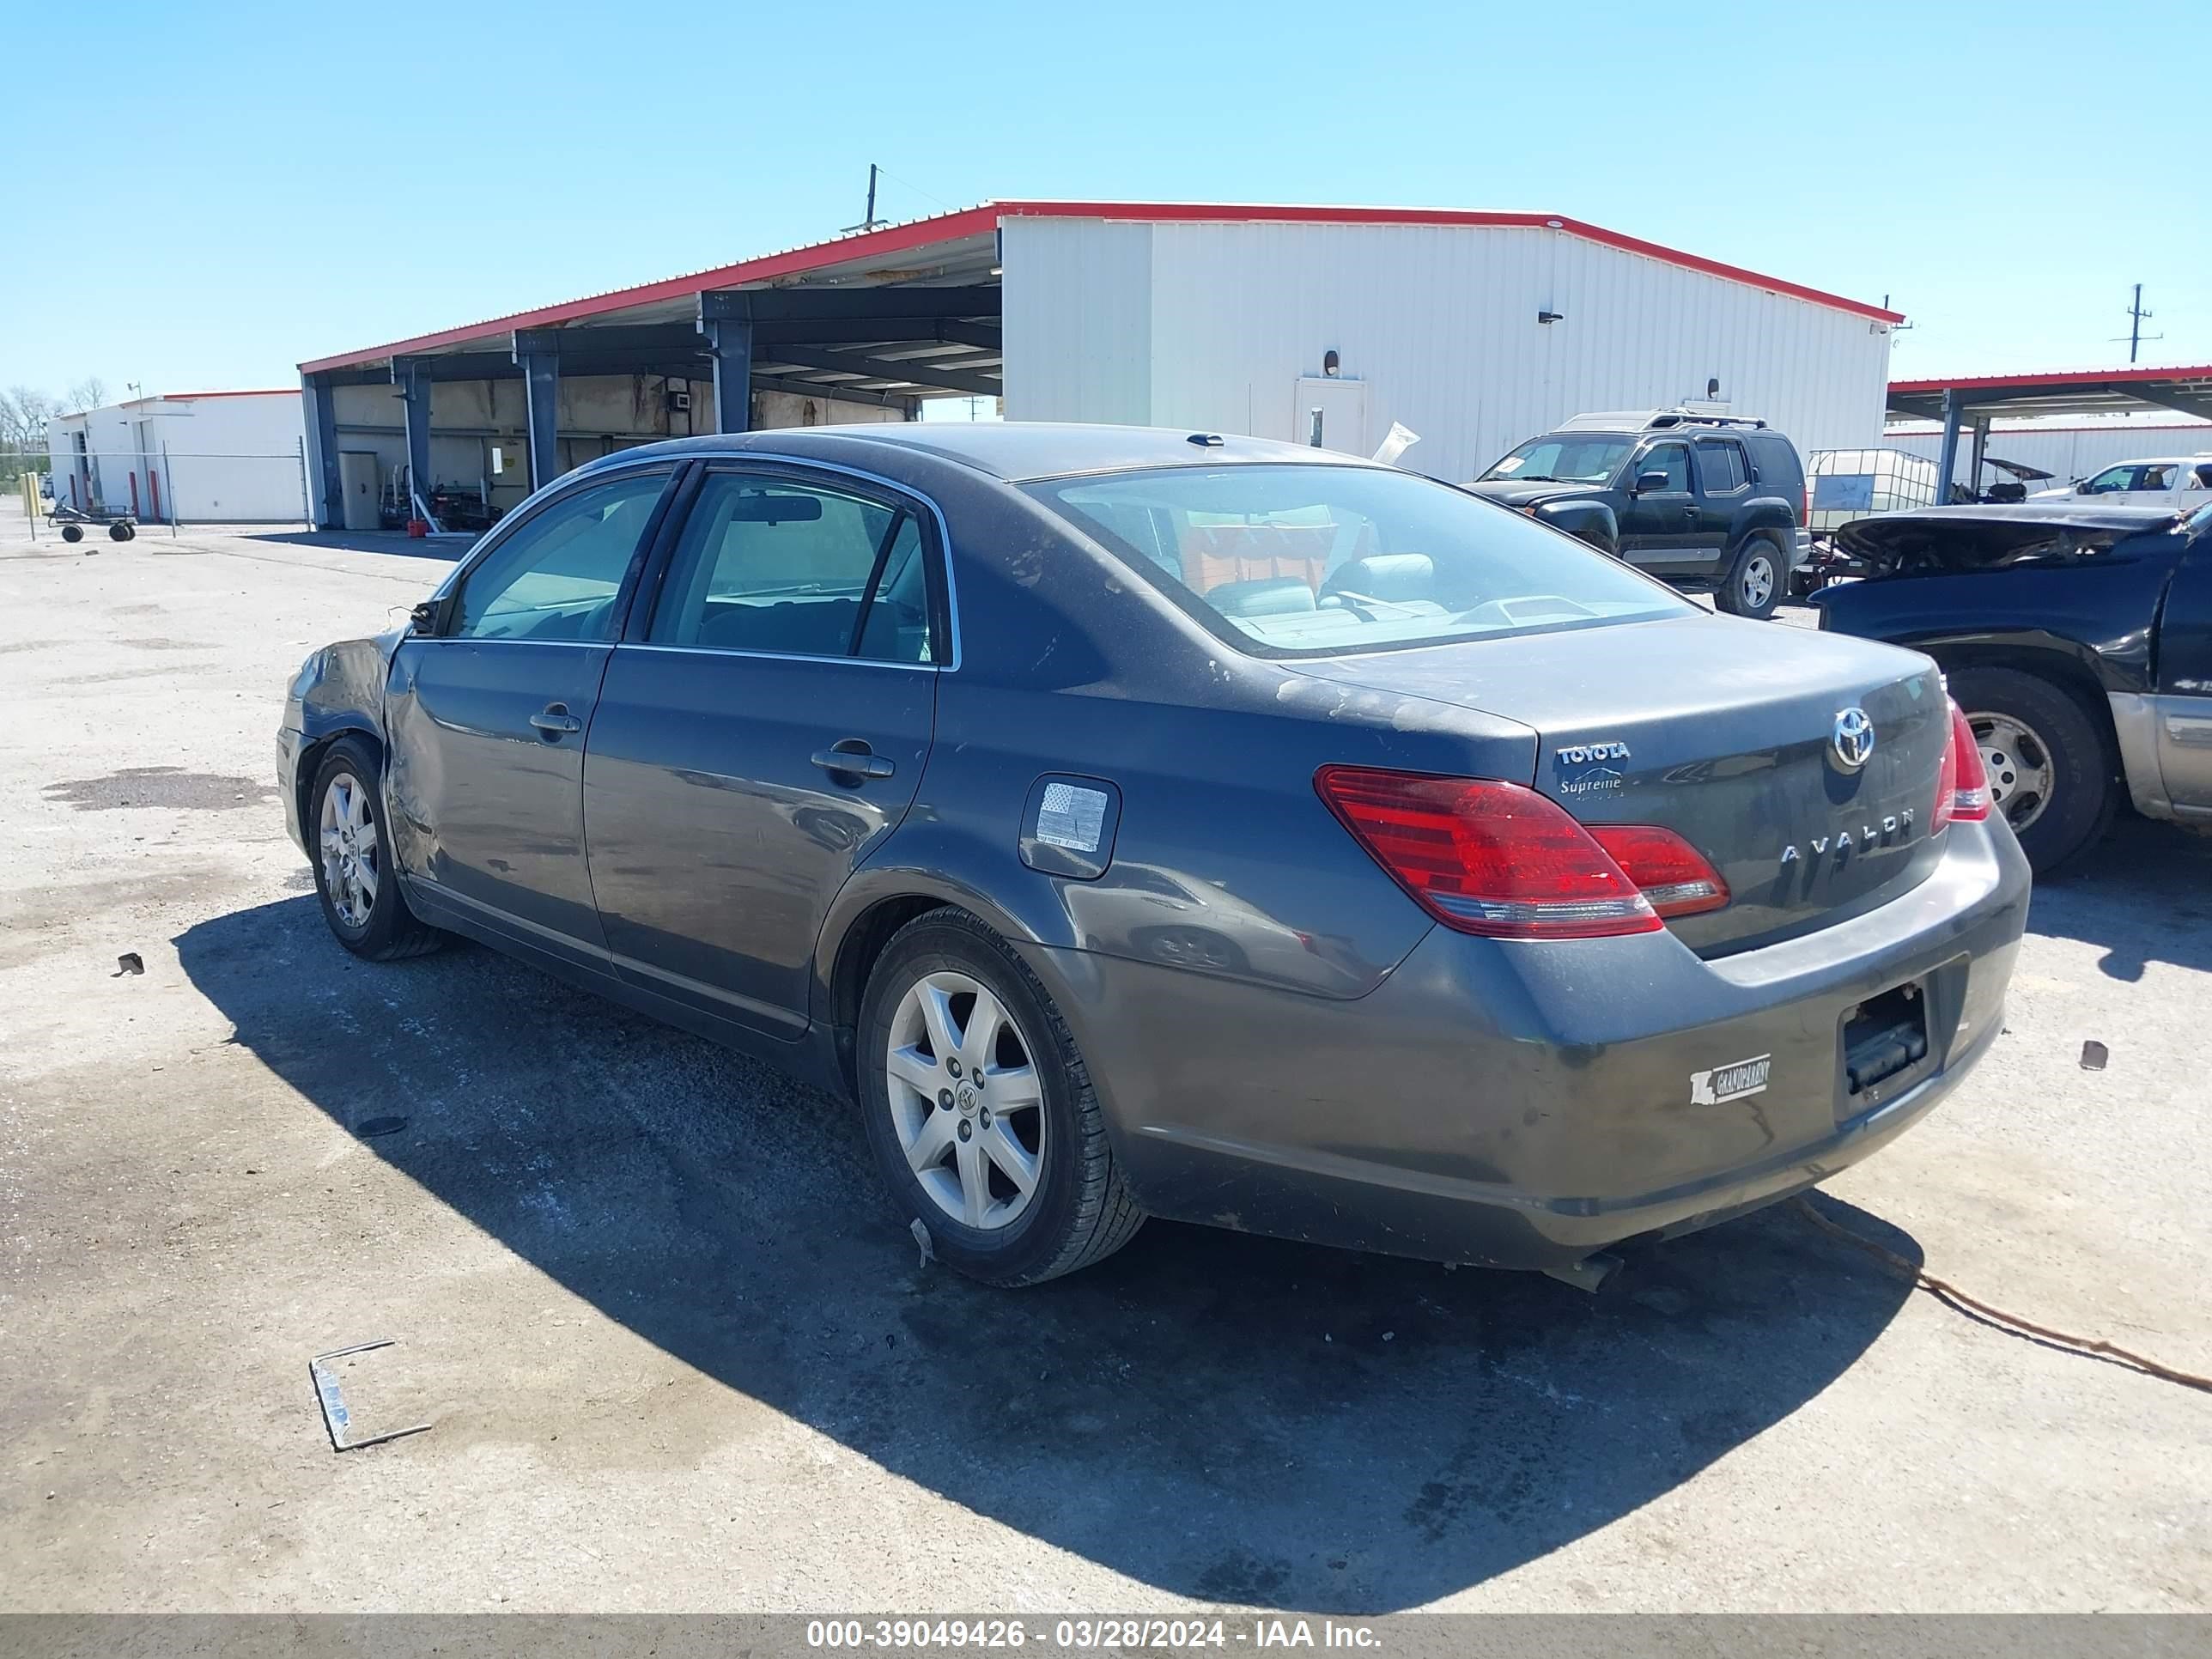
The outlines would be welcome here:
M 1091 951 L 1024 953 L 1155 1214 L 1498 1267 L 1566 1267 L 1814 1186 L 1931 1110 L 2002 1026 L 2026 927 L 2011 830 L 1955 825 L 1902 898 L 1701 960 L 1672 933 L 1431 931 L 1325 1002 Z M 1843 1026 L 1922 991 L 1927 1055 L 1856 1091 Z M 1767 1062 L 1763 1086 L 1714 1073 Z

